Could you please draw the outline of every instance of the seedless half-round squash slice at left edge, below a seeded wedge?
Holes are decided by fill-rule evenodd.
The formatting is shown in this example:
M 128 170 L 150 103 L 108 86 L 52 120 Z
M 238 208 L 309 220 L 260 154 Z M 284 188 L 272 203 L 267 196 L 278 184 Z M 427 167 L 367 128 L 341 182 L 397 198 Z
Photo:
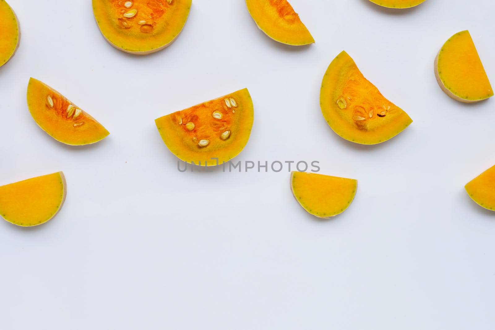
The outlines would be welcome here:
M 22 227 L 38 226 L 52 219 L 65 201 L 62 172 L 0 187 L 0 216 Z

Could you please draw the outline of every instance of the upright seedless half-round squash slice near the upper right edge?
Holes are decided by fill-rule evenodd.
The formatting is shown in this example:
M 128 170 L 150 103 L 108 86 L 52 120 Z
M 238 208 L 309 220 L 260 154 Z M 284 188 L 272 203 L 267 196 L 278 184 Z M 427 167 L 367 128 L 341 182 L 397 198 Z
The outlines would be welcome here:
M 435 76 L 440 88 L 453 99 L 478 102 L 494 95 L 469 31 L 453 35 L 435 58 Z

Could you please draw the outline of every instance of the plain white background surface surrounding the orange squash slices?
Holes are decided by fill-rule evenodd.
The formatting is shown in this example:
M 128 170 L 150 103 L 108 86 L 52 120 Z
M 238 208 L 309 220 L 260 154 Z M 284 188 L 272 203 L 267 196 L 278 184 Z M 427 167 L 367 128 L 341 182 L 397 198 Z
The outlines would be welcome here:
M 36 228 L 0 221 L 0 328 L 495 328 L 495 212 L 463 186 L 495 164 L 495 99 L 444 94 L 433 61 L 469 29 L 495 83 L 491 0 L 292 0 L 316 40 L 278 44 L 244 0 L 194 0 L 170 47 L 138 57 L 100 35 L 89 0 L 9 0 L 22 38 L 0 68 L 0 185 L 63 171 L 67 199 Z M 319 92 L 345 49 L 414 120 L 362 146 L 323 119 Z M 29 77 L 99 120 L 85 147 L 44 133 Z M 180 173 L 154 119 L 247 87 L 250 141 L 236 161 L 320 161 L 358 179 L 332 220 L 296 202 L 281 173 Z

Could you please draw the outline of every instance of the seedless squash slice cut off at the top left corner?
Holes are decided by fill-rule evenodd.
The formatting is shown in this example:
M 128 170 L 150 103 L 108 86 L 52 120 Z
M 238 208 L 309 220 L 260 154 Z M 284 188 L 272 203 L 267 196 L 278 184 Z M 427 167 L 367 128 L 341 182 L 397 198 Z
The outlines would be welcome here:
M 2 66 L 19 47 L 21 32 L 17 16 L 5 0 L 0 0 L 0 16 L 0 66 Z

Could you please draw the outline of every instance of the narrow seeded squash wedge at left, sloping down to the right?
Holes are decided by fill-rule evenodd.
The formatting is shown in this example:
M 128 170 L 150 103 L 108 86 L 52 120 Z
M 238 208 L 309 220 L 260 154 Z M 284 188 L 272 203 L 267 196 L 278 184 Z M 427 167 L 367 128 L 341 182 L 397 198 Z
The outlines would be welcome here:
M 29 80 L 27 101 L 38 126 L 57 141 L 84 145 L 98 142 L 109 134 L 88 113 L 37 79 Z

